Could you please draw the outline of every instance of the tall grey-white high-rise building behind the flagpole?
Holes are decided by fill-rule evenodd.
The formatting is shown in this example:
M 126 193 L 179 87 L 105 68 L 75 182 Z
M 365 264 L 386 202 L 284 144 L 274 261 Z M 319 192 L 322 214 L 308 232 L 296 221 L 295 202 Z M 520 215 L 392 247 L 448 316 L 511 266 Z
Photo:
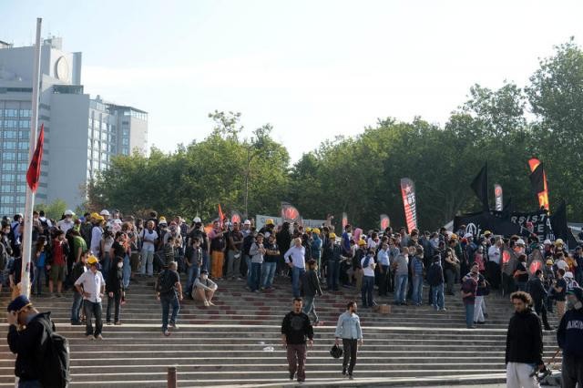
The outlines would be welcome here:
M 34 56 L 34 46 L 0 41 L 0 216 L 25 208 Z M 38 125 L 45 125 L 45 147 L 36 203 L 63 199 L 75 209 L 88 179 L 113 156 L 147 152 L 148 113 L 85 94 L 81 59 L 63 50 L 60 37 L 43 42 Z

